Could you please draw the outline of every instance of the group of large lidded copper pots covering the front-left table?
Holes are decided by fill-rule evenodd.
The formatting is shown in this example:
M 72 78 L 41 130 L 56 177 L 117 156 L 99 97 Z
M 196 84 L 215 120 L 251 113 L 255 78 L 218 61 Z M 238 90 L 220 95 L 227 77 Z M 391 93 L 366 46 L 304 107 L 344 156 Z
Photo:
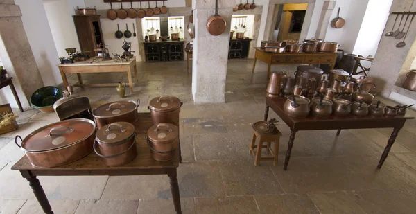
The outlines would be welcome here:
M 16 145 L 33 166 L 62 166 L 92 151 L 107 166 L 122 166 L 135 159 L 138 147 L 133 123 L 140 123 L 137 113 L 140 100 L 109 102 L 91 110 L 88 98 L 65 91 L 64 98 L 58 101 L 54 109 L 60 122 L 40 127 L 24 139 L 15 137 Z M 146 141 L 150 156 L 157 161 L 175 157 L 181 106 L 182 102 L 173 96 L 157 97 L 149 102 L 154 125 L 148 130 Z

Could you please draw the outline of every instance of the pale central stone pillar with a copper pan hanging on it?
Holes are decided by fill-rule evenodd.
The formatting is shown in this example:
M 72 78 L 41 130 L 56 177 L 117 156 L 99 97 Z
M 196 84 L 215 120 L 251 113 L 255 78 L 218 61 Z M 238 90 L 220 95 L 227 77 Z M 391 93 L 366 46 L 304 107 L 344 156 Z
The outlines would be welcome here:
M 215 0 L 193 0 L 192 95 L 195 103 L 225 102 L 225 78 L 227 75 L 229 29 L 235 1 L 218 1 L 218 14 L 226 23 L 222 35 L 208 33 L 207 20 L 215 13 Z

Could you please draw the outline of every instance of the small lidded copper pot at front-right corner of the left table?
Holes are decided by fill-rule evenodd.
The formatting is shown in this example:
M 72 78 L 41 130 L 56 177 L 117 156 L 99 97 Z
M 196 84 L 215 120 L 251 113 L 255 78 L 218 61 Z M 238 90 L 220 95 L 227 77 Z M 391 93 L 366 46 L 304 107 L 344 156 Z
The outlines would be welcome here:
M 147 143 L 153 159 L 169 161 L 179 145 L 179 129 L 172 123 L 157 123 L 148 130 Z

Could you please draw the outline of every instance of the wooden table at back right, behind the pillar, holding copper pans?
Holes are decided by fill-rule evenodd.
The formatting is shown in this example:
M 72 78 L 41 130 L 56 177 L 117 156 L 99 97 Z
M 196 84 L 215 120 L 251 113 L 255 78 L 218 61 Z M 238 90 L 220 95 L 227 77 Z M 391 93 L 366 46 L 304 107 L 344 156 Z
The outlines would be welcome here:
M 331 64 L 331 69 L 335 66 L 338 53 L 316 52 L 316 53 L 269 53 L 261 48 L 256 49 L 254 55 L 253 73 L 256 68 L 256 61 L 260 60 L 268 64 L 267 76 L 270 77 L 272 65 L 282 64 Z

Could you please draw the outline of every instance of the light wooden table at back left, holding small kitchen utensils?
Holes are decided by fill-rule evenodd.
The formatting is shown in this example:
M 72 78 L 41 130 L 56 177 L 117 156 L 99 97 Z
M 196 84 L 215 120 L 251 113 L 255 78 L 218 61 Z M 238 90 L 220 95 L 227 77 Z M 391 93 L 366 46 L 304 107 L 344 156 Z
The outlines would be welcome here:
M 65 87 L 69 85 L 66 73 L 76 73 L 78 76 L 78 82 L 74 84 L 76 87 L 116 87 L 118 85 L 117 83 L 84 84 L 81 73 L 127 72 L 130 93 L 134 91 L 132 82 L 133 71 L 135 72 L 136 81 L 138 81 L 136 57 L 132 57 L 127 62 L 114 62 L 114 60 L 93 62 L 92 59 L 89 59 L 84 62 L 58 64 L 57 66 L 59 67 Z

